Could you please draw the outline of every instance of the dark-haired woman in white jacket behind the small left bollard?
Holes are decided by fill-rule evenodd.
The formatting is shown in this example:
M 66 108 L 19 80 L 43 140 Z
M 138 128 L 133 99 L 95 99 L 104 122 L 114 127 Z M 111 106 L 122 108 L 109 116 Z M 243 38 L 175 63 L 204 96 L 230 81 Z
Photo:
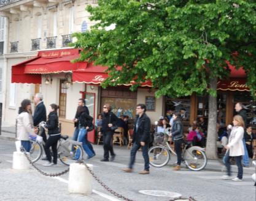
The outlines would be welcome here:
M 25 99 L 21 102 L 17 117 L 17 139 L 26 152 L 30 151 L 29 134 L 34 134 L 33 117 L 31 112 L 31 101 Z M 35 135 L 35 134 L 34 134 Z

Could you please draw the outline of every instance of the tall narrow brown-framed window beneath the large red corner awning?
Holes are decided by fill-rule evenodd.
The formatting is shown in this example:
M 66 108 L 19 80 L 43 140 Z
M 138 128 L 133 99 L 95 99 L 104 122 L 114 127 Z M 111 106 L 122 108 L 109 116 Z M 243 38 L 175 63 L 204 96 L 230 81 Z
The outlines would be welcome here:
M 66 86 L 65 83 L 66 79 L 61 79 L 60 80 L 60 109 L 59 109 L 59 115 L 60 117 L 66 117 L 66 103 L 67 103 L 67 89 L 68 87 Z

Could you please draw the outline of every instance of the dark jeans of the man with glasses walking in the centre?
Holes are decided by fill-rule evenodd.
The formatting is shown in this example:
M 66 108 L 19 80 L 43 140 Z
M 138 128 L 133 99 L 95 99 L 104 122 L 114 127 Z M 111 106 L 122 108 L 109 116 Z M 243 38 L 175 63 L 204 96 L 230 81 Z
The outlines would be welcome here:
M 130 164 L 129 164 L 130 169 L 133 169 L 136 153 L 141 147 L 142 146 L 140 144 L 137 144 L 136 142 L 133 143 L 133 147 L 131 148 L 131 158 L 130 158 Z M 149 171 L 149 145 L 148 144 L 145 144 L 145 146 L 142 147 L 142 156 L 144 158 L 144 170 Z

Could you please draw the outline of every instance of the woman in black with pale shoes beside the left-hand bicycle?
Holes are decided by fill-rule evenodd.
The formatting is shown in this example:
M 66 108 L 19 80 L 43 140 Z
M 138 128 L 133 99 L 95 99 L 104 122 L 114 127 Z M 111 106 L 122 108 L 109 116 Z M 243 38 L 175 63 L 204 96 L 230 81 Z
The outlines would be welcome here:
M 48 160 L 47 164 L 44 164 L 44 166 L 56 166 L 57 159 L 58 159 L 58 151 L 57 151 L 57 145 L 58 140 L 60 139 L 60 130 L 59 130 L 59 120 L 58 120 L 58 109 L 59 106 L 56 104 L 50 104 L 49 107 L 49 114 L 48 114 L 48 120 L 45 123 L 44 128 L 48 129 L 48 139 L 45 143 L 45 154 Z M 53 163 L 52 163 L 52 156 L 50 153 L 50 147 L 52 147 L 53 152 Z

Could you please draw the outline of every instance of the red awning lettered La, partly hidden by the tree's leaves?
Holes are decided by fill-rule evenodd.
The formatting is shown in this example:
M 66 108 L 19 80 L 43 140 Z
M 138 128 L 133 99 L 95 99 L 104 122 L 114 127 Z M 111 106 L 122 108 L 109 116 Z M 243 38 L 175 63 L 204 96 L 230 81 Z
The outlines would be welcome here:
M 84 67 L 84 66 L 83 66 Z M 120 68 L 120 67 L 119 67 Z M 87 64 L 85 68 L 79 68 L 72 73 L 73 82 L 86 83 L 86 84 L 101 84 L 107 77 L 108 74 L 105 72 L 107 67 L 101 65 L 93 65 L 92 63 Z M 130 86 L 131 84 L 123 84 Z M 141 84 L 142 87 L 151 87 L 150 81 Z

